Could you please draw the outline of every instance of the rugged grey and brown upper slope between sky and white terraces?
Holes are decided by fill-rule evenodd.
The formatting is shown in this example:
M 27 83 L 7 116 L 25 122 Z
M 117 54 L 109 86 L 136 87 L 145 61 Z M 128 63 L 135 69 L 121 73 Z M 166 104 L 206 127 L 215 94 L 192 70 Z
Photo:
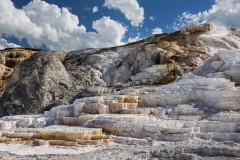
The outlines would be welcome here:
M 239 49 L 236 35 L 216 36 L 209 33 L 212 28 L 210 24 L 189 26 L 124 46 L 66 54 L 1 51 L 0 87 L 5 92 L 0 99 L 1 116 L 37 114 L 77 98 L 112 93 L 129 86 L 173 82 L 184 73 L 196 70 L 216 53 L 216 48 Z M 219 72 L 225 63 L 224 59 L 221 66 L 220 62 L 210 61 L 204 66 L 211 65 L 213 69 L 203 73 L 198 68 L 195 74 L 211 77 L 209 74 Z M 236 74 L 224 72 L 220 77 L 240 81 Z

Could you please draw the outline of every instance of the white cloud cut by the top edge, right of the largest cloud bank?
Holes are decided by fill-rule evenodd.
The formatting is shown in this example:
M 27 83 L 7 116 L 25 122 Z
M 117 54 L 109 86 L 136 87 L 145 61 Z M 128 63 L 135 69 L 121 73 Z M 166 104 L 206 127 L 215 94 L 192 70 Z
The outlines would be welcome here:
M 144 9 L 137 0 L 105 0 L 103 4 L 108 9 L 119 9 L 131 21 L 132 26 L 141 26 L 144 20 Z

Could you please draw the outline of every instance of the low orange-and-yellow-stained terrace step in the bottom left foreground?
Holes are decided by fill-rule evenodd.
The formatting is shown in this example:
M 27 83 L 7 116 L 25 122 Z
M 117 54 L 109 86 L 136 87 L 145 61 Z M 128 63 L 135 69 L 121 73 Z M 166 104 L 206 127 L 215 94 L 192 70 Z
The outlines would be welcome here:
M 76 146 L 110 144 L 114 137 L 100 128 L 52 125 L 44 128 L 17 128 L 0 132 L 1 143 L 33 142 L 37 145 Z

